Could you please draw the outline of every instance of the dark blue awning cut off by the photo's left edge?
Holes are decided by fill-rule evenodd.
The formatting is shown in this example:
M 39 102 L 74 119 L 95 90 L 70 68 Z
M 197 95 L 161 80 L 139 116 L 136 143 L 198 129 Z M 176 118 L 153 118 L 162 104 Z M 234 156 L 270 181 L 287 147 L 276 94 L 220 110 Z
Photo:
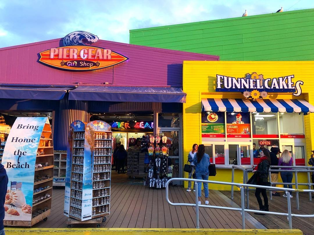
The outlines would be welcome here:
M 59 100 L 64 97 L 69 89 L 75 87 L 76 86 L 0 84 L 0 98 Z

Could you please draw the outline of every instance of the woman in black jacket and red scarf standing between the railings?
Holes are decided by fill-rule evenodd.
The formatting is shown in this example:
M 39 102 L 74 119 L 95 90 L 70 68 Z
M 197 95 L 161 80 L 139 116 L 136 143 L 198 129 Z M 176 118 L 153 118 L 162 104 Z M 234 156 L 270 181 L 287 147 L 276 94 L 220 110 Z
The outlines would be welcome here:
M 261 163 L 258 164 L 257 170 L 253 170 L 255 174 L 257 174 L 257 184 L 258 185 L 263 185 L 263 186 L 269 186 L 268 182 L 268 171 L 269 171 L 269 166 L 270 166 L 270 156 L 269 152 L 267 149 L 262 149 L 261 152 Z M 264 205 L 262 198 L 260 194 L 262 193 L 262 196 L 264 198 Z M 268 210 L 268 197 L 266 193 L 266 189 L 261 189 L 261 188 L 256 188 L 255 190 L 255 196 L 259 205 L 259 210 L 260 211 L 269 211 Z M 254 213 L 257 215 L 263 215 L 260 213 Z

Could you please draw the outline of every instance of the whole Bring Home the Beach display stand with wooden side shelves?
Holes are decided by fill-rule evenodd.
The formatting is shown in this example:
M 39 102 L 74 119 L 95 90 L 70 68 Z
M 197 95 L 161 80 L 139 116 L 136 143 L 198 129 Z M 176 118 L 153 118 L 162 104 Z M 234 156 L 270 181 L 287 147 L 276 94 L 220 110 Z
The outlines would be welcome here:
M 6 226 L 33 226 L 51 212 L 53 142 L 46 117 L 18 117 L 3 152 Z

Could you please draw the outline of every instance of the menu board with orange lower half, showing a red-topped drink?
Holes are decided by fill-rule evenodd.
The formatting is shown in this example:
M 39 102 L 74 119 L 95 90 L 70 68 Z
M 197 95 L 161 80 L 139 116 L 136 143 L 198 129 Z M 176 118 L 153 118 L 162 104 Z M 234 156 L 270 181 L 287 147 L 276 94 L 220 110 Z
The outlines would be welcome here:
M 250 138 L 251 125 L 249 113 L 227 113 L 227 137 Z

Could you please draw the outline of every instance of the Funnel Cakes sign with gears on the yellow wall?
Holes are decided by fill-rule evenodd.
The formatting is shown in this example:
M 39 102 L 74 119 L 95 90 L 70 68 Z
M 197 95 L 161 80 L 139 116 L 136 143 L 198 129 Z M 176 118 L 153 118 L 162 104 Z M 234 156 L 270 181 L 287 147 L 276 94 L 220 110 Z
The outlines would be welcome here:
M 235 78 L 225 75 L 216 74 L 217 77 L 217 88 L 216 91 L 223 92 L 247 92 L 247 94 L 253 91 L 267 95 L 267 92 L 292 92 L 293 95 L 299 96 L 302 93 L 301 85 L 303 81 L 292 81 L 294 75 L 275 77 L 275 78 L 264 78 L 263 74 L 252 74 L 247 73 L 246 77 Z M 246 94 L 244 94 L 246 96 Z

